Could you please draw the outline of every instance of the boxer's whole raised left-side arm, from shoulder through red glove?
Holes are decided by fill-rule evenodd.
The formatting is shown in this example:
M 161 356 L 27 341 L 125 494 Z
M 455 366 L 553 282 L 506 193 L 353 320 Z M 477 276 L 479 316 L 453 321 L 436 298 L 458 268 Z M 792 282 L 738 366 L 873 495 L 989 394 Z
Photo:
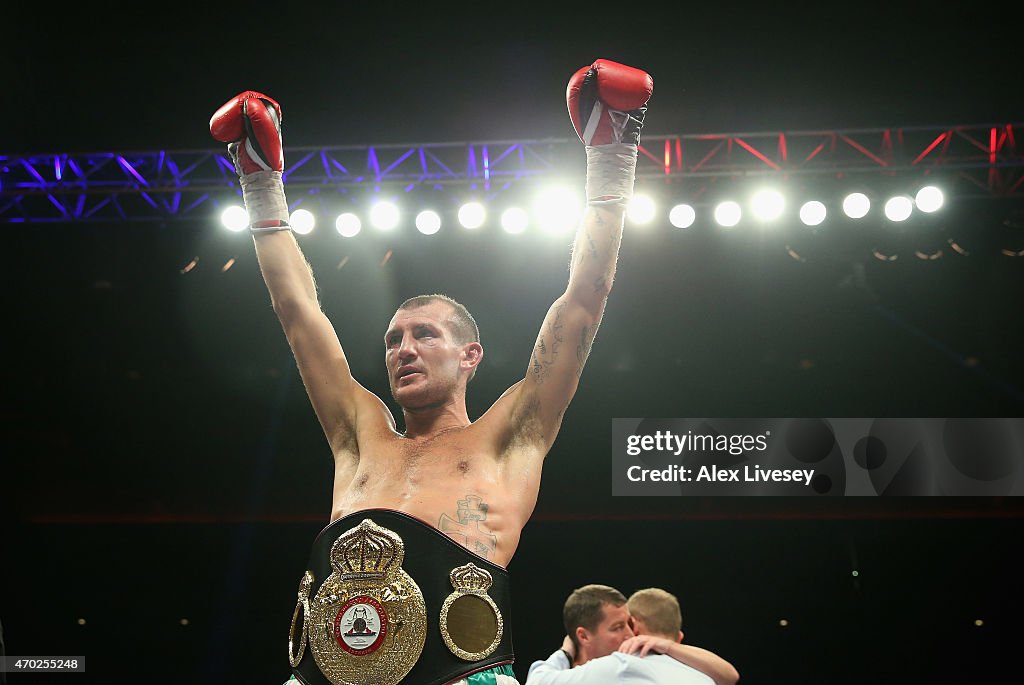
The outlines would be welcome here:
M 281 122 L 278 102 L 246 91 L 214 114 L 210 132 L 216 140 L 228 143 L 260 271 L 313 411 L 334 454 L 357 452 L 356 409 L 372 397 L 352 378 L 334 326 L 321 309 L 312 270 L 288 224 Z

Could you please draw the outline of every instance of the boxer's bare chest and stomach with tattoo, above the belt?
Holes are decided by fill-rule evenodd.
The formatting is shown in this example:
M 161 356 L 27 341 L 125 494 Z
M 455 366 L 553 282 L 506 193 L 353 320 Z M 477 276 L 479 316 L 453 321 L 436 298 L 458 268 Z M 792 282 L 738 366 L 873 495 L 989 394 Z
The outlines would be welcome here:
M 335 454 L 331 520 L 366 509 L 400 511 L 507 566 L 537 504 L 544 455 L 501 446 L 495 419 L 418 439 L 384 420 L 360 430 L 357 458 Z

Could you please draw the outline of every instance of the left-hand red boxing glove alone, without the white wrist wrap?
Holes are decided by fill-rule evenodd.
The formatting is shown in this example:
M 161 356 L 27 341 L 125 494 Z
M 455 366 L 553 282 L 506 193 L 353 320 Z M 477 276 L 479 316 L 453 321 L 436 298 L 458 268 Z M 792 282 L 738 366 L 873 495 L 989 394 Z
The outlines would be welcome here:
M 239 175 L 284 171 L 281 105 L 255 90 L 239 93 L 210 119 L 214 140 L 229 143 L 227 152 Z

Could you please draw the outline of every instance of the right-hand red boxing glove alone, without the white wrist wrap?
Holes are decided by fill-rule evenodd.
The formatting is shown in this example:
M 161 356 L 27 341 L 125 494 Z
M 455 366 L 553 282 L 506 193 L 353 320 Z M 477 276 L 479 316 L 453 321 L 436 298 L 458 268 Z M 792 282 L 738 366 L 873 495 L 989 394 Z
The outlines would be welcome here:
M 647 100 L 653 92 L 650 74 L 598 59 L 572 75 L 565 99 L 572 126 L 584 144 L 638 145 Z

